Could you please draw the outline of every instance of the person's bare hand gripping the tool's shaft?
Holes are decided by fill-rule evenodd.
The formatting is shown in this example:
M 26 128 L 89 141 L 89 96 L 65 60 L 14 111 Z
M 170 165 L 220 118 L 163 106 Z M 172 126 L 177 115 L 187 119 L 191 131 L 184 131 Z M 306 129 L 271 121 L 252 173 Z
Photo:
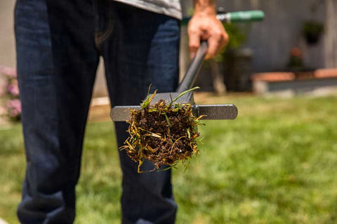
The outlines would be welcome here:
M 195 12 L 188 23 L 187 34 L 189 37 L 191 59 L 197 53 L 200 41 L 207 41 L 209 49 L 205 59 L 215 57 L 228 43 L 228 35 L 222 23 L 216 18 L 214 12 Z

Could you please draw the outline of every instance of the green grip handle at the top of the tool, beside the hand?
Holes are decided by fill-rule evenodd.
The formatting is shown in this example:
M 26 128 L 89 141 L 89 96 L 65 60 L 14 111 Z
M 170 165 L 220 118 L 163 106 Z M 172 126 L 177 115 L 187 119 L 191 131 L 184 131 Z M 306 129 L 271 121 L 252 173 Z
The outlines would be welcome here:
M 265 13 L 262 10 L 250 10 L 232 13 L 220 13 L 216 18 L 221 22 L 258 22 L 265 18 Z M 191 18 L 183 18 L 182 25 L 187 25 Z

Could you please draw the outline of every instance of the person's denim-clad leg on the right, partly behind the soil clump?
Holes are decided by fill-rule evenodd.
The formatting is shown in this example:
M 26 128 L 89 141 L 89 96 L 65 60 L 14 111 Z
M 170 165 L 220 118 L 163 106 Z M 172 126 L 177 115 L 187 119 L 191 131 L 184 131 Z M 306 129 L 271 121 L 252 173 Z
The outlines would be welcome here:
M 172 92 L 178 84 L 179 21 L 121 3 L 112 3 L 114 29 L 100 43 L 105 59 L 112 106 L 135 105 L 147 88 Z M 116 123 L 119 146 L 126 139 L 126 123 Z M 174 223 L 176 204 L 171 170 L 138 174 L 137 165 L 120 152 L 123 171 L 122 223 Z M 145 162 L 142 169 L 153 165 Z

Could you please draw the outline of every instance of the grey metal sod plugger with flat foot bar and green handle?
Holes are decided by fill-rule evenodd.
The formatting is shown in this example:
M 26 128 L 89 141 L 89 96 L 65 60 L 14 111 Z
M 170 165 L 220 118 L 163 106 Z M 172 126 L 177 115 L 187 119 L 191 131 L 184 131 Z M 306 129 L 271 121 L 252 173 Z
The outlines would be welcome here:
M 260 10 L 243 11 L 234 13 L 223 13 L 217 15 L 218 20 L 222 22 L 254 22 L 264 18 L 264 13 Z M 190 18 L 183 19 L 182 22 L 187 22 Z M 172 99 L 177 99 L 176 104 L 191 104 L 193 116 L 199 117 L 204 115 L 204 120 L 233 120 L 237 117 L 237 107 L 234 104 L 194 104 L 193 92 L 187 92 L 180 97 L 180 94 L 190 90 L 197 79 L 201 64 L 207 52 L 207 42 L 201 43 L 194 59 L 187 69 L 183 80 L 178 85 L 176 92 L 164 92 L 155 94 L 152 102 L 159 102 L 164 99 L 165 102 L 171 102 Z M 150 96 L 151 97 L 151 96 Z M 110 116 L 114 121 L 125 121 L 130 118 L 129 111 L 141 109 L 140 106 L 114 106 Z

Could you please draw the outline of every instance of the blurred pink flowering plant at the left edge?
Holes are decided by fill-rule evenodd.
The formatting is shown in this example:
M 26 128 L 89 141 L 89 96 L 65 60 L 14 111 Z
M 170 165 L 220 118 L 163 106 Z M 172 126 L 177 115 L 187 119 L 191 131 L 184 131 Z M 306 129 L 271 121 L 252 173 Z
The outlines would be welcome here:
M 4 98 L 0 106 L 0 115 L 19 121 L 21 118 L 21 102 L 19 99 L 19 87 L 16 70 L 6 66 L 0 66 L 0 74 L 3 75 L 4 85 L 0 87 L 0 97 Z

